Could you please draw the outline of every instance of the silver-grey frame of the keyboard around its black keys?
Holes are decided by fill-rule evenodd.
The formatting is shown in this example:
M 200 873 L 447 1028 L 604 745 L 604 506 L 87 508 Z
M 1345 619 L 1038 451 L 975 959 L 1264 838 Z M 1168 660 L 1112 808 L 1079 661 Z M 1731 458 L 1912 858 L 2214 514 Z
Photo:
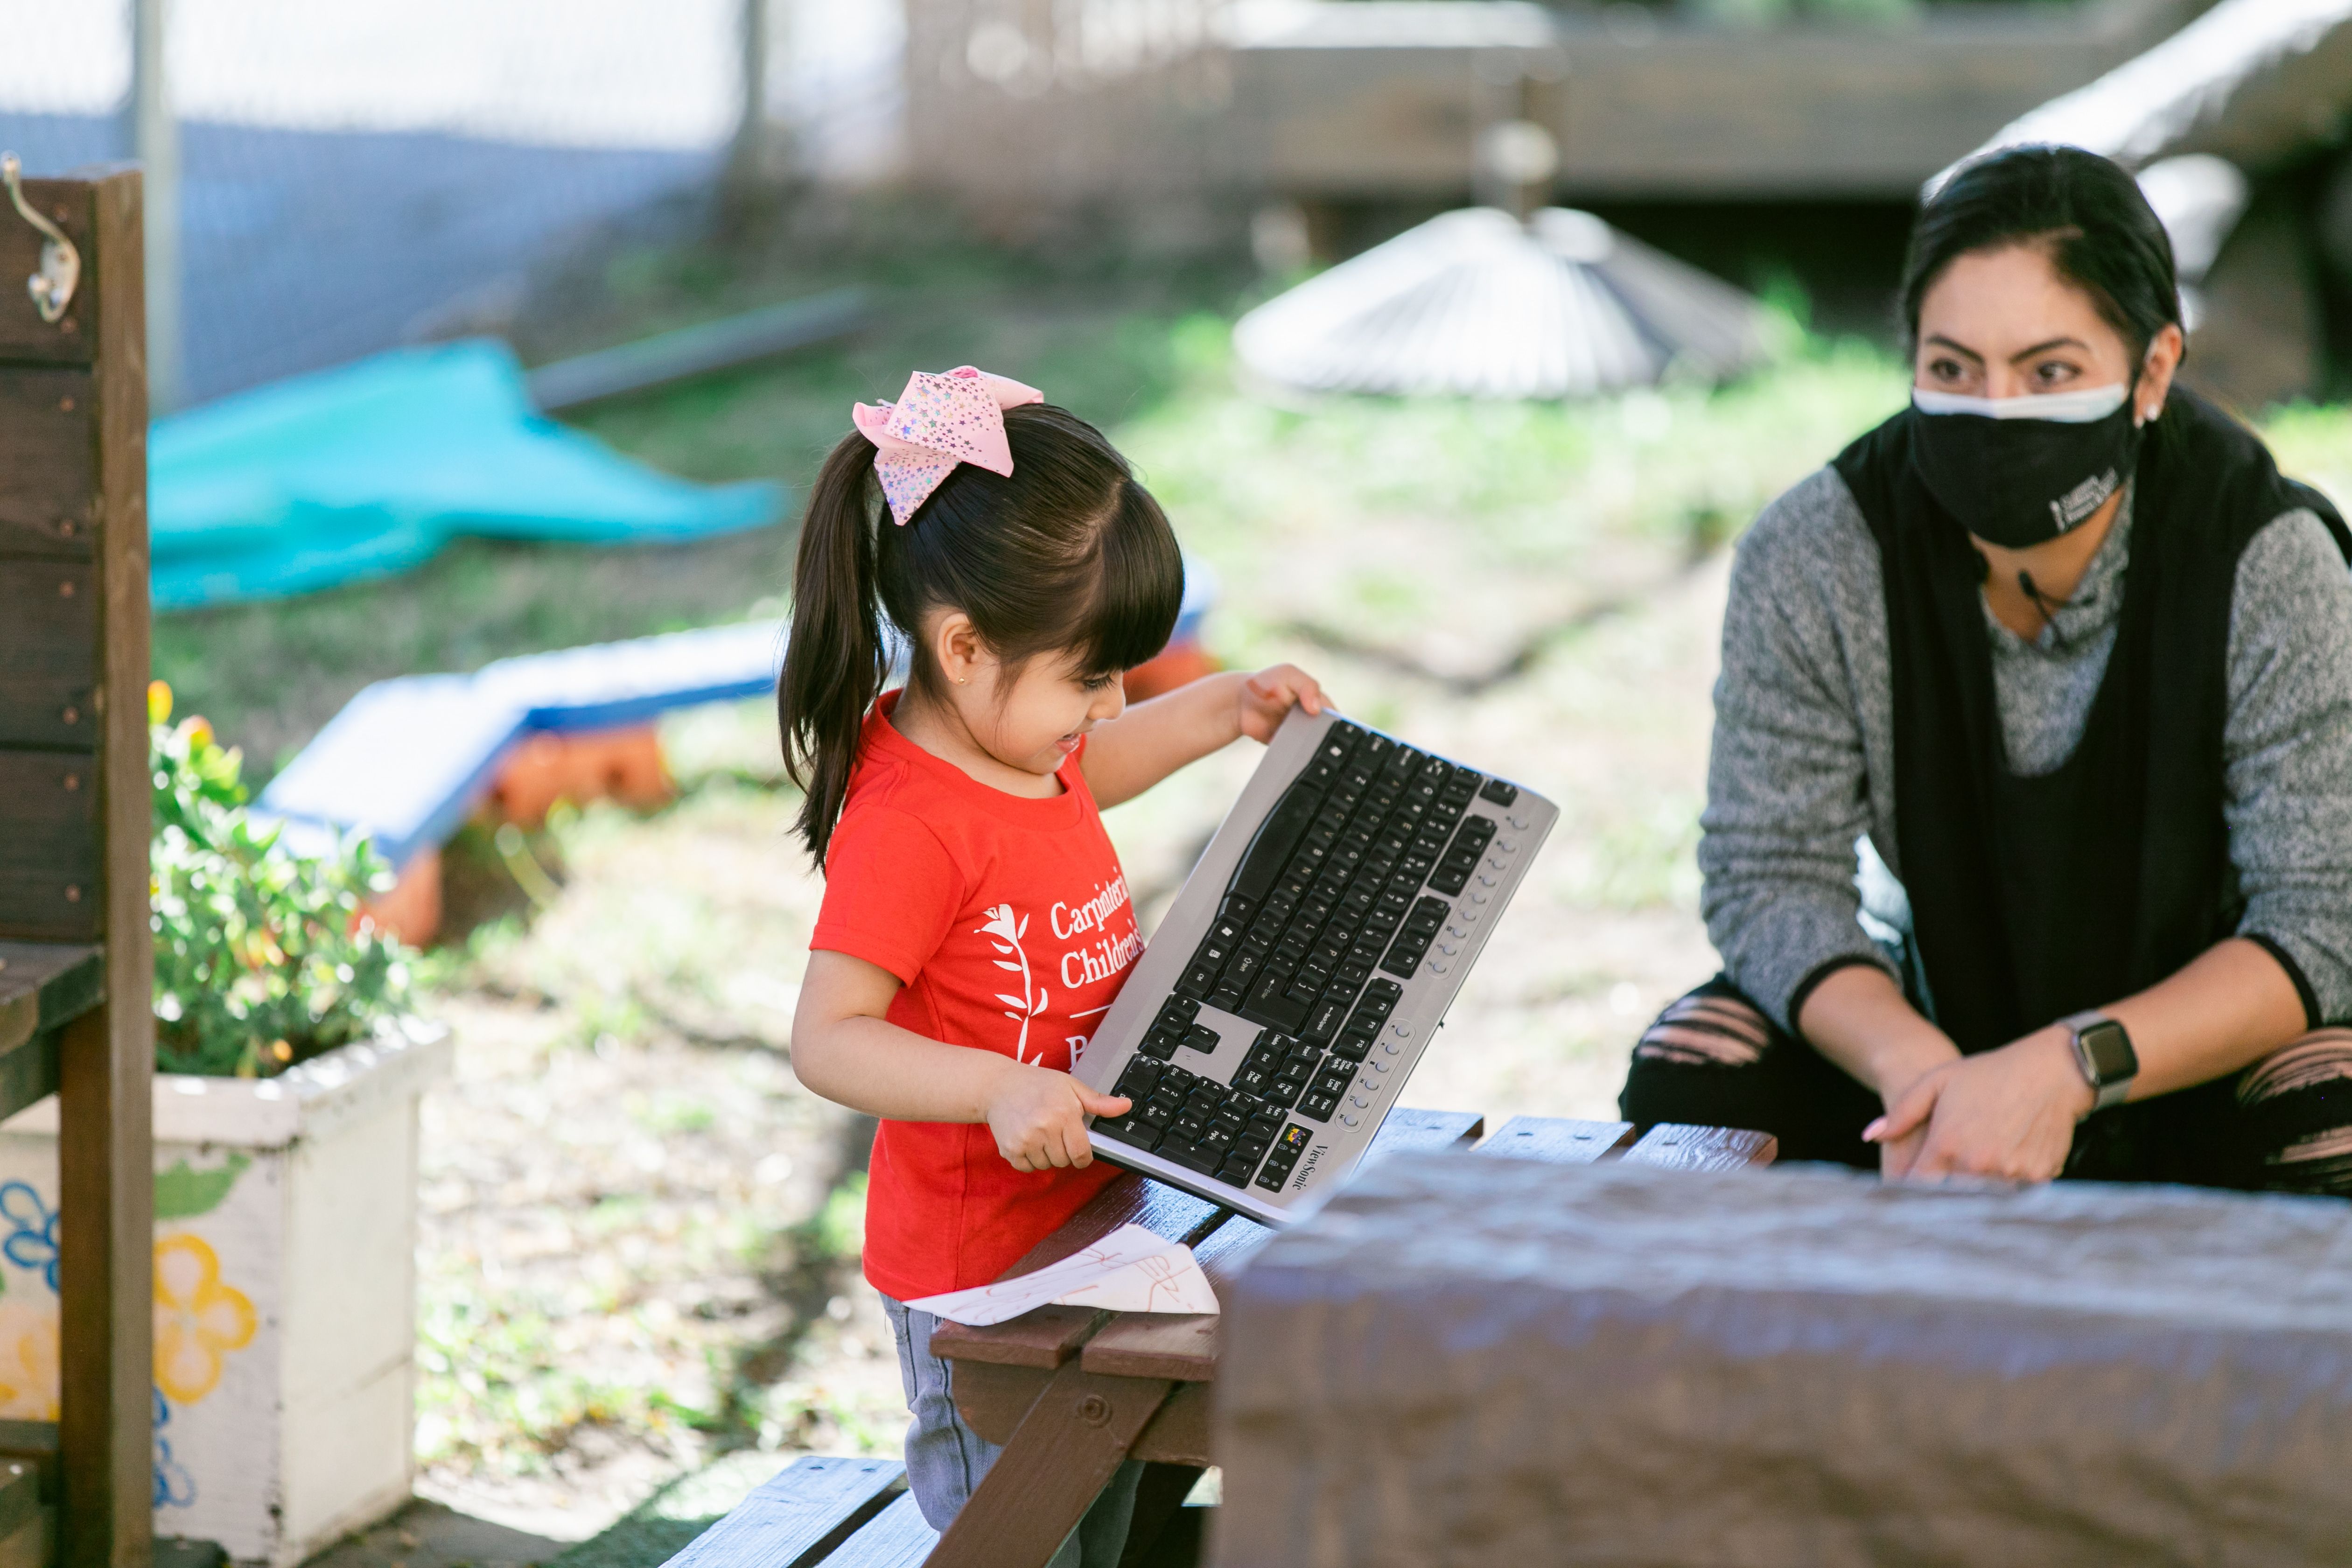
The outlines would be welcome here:
M 1272 743 L 1265 748 L 1265 757 L 1258 762 L 1258 771 L 1249 778 L 1240 799 L 1232 802 L 1232 811 L 1225 813 L 1216 837 L 1209 839 L 1209 849 L 1192 867 L 1192 875 L 1185 877 L 1183 891 L 1178 891 L 1176 903 L 1169 905 L 1167 919 L 1160 922 L 1160 931 L 1152 936 L 1150 947 L 1145 947 L 1143 957 L 1136 959 L 1136 971 L 1127 978 L 1127 985 L 1120 987 L 1120 999 L 1103 1016 L 1101 1027 L 1096 1027 L 1084 1051 L 1080 1051 L 1073 1072 L 1089 1088 L 1110 1093 L 1112 1084 L 1120 1081 L 1120 1074 L 1127 1072 L 1127 1063 L 1136 1056 L 1136 1044 L 1150 1032 L 1152 1018 L 1160 1013 L 1160 1004 L 1176 990 L 1176 980 L 1183 978 L 1185 966 L 1192 961 L 1192 952 L 1200 947 L 1202 936 L 1216 919 L 1216 910 L 1225 900 L 1225 886 L 1232 882 L 1235 867 L 1240 867 L 1242 856 L 1249 851 L 1249 842 L 1256 837 L 1258 823 L 1265 820 L 1265 813 L 1275 809 L 1282 792 L 1291 788 L 1291 780 L 1298 778 L 1308 762 L 1315 759 L 1315 752 L 1322 748 L 1324 731 L 1343 717 L 1345 715 L 1334 715 L 1329 710 L 1310 717 L 1294 708 L 1282 722 L 1282 729 L 1275 731 Z M 1374 731 L 1374 726 L 1362 719 L 1348 722 Z M 1388 731 L 1374 733 L 1385 736 Z M 1390 736 L 1390 741 L 1397 741 L 1397 736 Z M 1425 752 L 1428 748 L 1414 750 Z M 1446 757 L 1446 762 L 1454 762 L 1454 757 Z M 1470 884 L 1461 891 L 1461 896 L 1446 900 L 1451 912 L 1437 933 L 1437 943 L 1430 945 L 1430 952 L 1423 957 L 1414 976 L 1399 980 L 1399 985 L 1404 985 L 1404 997 L 1397 1001 L 1388 1025 L 1381 1030 L 1378 1044 L 1359 1063 L 1357 1079 L 1350 1084 L 1348 1098 L 1341 1100 L 1338 1112 L 1334 1112 L 1329 1121 L 1312 1121 L 1301 1117 L 1296 1110 L 1287 1112 L 1287 1124 L 1305 1126 L 1312 1133 L 1312 1143 L 1308 1143 L 1305 1154 L 1301 1154 L 1279 1194 L 1258 1187 L 1256 1178 L 1251 1178 L 1249 1187 L 1228 1187 L 1225 1182 L 1211 1180 L 1197 1171 L 1188 1171 L 1185 1166 L 1101 1133 L 1089 1135 L 1094 1152 L 1112 1164 L 1143 1171 L 1145 1175 L 1169 1182 L 1171 1187 L 1195 1192 L 1211 1204 L 1240 1211 L 1263 1225 L 1294 1225 L 1312 1213 L 1324 1197 L 1336 1192 L 1338 1185 L 1357 1168 L 1364 1150 L 1371 1147 L 1374 1135 L 1381 1131 L 1381 1121 L 1385 1121 L 1388 1112 L 1395 1110 L 1397 1093 L 1404 1088 L 1404 1081 L 1411 1077 L 1421 1053 L 1444 1023 L 1446 1009 L 1454 1006 L 1454 997 L 1461 992 L 1463 980 L 1470 978 L 1470 966 L 1477 961 L 1479 952 L 1484 952 L 1486 938 L 1503 917 L 1503 907 L 1510 903 L 1510 896 L 1526 877 L 1526 867 L 1534 863 L 1543 839 L 1552 832 L 1552 823 L 1559 820 L 1559 806 L 1536 795 L 1517 778 L 1486 773 L 1486 769 L 1479 769 L 1479 773 L 1486 778 L 1503 778 L 1503 783 L 1519 790 L 1519 797 L 1510 806 L 1496 806 L 1484 797 L 1470 799 L 1470 809 L 1463 816 L 1494 818 L 1494 842 L 1486 846 L 1486 856 L 1479 860 Z M 1428 884 L 1423 884 L 1414 896 L 1444 898 L 1444 893 Z M 1454 952 L 1446 952 L 1446 947 Z M 1397 980 L 1397 976 L 1390 976 L 1385 969 L 1376 973 Z M 1265 1025 L 1249 1023 L 1247 1018 L 1218 1011 L 1209 1004 L 1202 1004 L 1200 1023 L 1218 1032 L 1216 1051 L 1204 1056 L 1192 1048 L 1178 1048 L 1174 1065 L 1185 1072 L 1216 1079 L 1218 1084 L 1230 1084 Z

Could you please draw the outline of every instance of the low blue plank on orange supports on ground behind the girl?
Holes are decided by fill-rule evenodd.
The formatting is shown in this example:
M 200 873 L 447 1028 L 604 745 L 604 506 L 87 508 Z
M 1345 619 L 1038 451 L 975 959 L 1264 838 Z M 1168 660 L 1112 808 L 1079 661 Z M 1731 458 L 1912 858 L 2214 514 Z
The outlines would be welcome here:
M 1214 602 L 1216 578 L 1188 559 L 1171 649 L 1200 642 Z M 292 849 L 362 832 L 400 870 L 466 823 L 524 736 L 619 729 L 670 708 L 767 696 L 786 635 L 783 623 L 753 621 L 501 658 L 475 675 L 376 682 L 270 780 L 259 806 L 285 823 Z

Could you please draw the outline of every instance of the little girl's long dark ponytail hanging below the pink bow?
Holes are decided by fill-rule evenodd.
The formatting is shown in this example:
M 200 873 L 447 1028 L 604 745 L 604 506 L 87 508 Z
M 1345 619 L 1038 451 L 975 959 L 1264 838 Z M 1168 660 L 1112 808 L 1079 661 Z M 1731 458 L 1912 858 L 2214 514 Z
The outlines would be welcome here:
M 818 867 L 849 792 L 866 710 L 889 677 L 875 595 L 873 470 L 873 442 L 849 435 L 816 475 L 800 524 L 793 630 L 776 682 L 783 771 L 804 792 L 795 827 Z

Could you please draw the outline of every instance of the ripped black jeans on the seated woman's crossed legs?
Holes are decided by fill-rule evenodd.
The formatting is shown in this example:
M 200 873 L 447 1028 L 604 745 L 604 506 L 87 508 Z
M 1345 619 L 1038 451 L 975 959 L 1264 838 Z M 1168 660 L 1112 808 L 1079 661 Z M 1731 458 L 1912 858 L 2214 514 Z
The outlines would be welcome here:
M 1668 1006 L 1632 1051 L 1618 1114 L 1740 1126 L 1780 1159 L 1877 1171 L 1863 1128 L 1879 1098 L 1717 976 Z M 2312 1030 L 2244 1072 L 2098 1112 L 2065 1175 L 2352 1197 L 2352 1030 Z

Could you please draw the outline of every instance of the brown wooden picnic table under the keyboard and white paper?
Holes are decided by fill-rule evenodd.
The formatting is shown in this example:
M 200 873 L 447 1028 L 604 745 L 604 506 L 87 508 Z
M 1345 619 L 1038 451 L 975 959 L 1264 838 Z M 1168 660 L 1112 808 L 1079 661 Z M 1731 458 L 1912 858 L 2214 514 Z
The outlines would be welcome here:
M 1477 1145 L 1479 1154 L 1590 1164 L 1625 1159 L 1722 1171 L 1771 1164 L 1764 1133 L 1656 1126 L 1635 1140 L 1628 1121 L 1515 1117 L 1479 1143 L 1475 1112 L 1395 1110 L 1367 1164 L 1399 1150 Z M 1192 1248 L 1218 1298 L 1272 1232 L 1190 1192 L 1134 1171 L 1103 1187 L 1068 1225 L 1004 1272 L 1030 1274 L 1115 1232 L 1141 1225 Z M 1042 1568 L 1077 1528 L 1124 1460 L 1145 1472 L 1134 1540 L 1152 1540 L 1214 1465 L 1209 1396 L 1216 1385 L 1218 1314 L 1037 1307 L 1004 1324 L 941 1324 L 931 1349 L 955 1361 L 955 1406 L 1004 1453 L 931 1552 L 931 1568 Z

